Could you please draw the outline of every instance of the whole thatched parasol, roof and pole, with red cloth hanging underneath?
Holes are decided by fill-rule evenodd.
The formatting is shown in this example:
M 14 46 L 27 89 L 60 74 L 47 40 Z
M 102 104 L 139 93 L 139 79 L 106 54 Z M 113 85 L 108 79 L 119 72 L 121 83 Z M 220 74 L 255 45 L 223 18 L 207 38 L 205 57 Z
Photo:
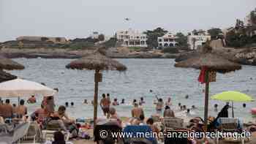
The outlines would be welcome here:
M 188 58 L 187 60 L 180 61 L 175 64 L 175 67 L 195 68 L 195 69 L 202 69 L 203 67 L 206 68 L 206 72 L 205 72 L 206 98 L 205 98 L 204 121 L 205 121 L 205 126 L 207 126 L 209 72 L 211 71 L 216 71 L 220 73 L 233 72 L 241 69 L 241 65 L 233 63 L 225 58 L 222 58 L 221 56 L 217 56 L 216 54 L 211 53 L 211 48 L 209 48 L 208 45 L 206 45 L 206 47 L 203 49 L 204 49 L 203 53 L 200 53 L 198 56 Z

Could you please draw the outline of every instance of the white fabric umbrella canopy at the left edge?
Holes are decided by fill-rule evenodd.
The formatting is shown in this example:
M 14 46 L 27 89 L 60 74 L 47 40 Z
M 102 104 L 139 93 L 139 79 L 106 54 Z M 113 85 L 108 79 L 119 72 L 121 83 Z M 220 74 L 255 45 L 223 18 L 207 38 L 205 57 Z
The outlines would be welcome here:
M 53 96 L 56 91 L 39 83 L 17 78 L 0 83 L 0 96 L 20 97 L 40 94 L 42 96 Z

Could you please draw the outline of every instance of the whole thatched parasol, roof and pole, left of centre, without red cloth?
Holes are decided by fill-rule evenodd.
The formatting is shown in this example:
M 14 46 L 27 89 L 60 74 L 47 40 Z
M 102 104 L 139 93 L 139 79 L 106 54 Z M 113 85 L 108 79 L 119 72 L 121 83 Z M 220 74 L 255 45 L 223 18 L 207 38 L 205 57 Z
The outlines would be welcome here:
M 68 69 L 89 69 L 95 70 L 94 81 L 94 126 L 96 126 L 97 119 L 97 105 L 98 105 L 98 83 L 102 81 L 102 74 L 100 70 L 118 70 L 120 72 L 127 70 L 123 64 L 116 60 L 103 56 L 101 53 L 94 53 L 78 60 L 72 61 L 66 66 Z

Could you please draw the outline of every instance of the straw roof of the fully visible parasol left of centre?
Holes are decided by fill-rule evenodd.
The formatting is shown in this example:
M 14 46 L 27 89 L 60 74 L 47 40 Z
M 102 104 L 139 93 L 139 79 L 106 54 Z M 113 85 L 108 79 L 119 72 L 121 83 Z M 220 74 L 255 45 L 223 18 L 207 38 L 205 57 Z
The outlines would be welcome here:
M 127 67 L 118 61 L 103 56 L 101 53 L 94 53 L 83 58 L 72 61 L 66 66 L 68 69 L 89 69 L 89 70 L 118 70 L 125 71 Z

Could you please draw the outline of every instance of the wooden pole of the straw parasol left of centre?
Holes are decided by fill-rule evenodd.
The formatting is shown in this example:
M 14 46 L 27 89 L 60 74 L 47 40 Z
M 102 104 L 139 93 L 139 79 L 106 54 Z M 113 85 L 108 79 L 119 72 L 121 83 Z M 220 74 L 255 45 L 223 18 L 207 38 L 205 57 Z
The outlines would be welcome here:
M 97 120 L 97 108 L 98 108 L 98 87 L 99 87 L 99 69 L 95 70 L 94 75 L 94 128 Z

